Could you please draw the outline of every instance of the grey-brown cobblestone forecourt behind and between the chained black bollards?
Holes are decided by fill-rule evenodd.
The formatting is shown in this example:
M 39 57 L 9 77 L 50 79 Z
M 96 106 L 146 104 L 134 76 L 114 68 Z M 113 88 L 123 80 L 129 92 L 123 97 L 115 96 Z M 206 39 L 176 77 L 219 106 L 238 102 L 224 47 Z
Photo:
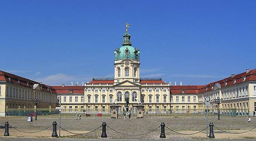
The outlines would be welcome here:
M 5 121 L 9 121 L 11 126 L 16 127 L 19 130 L 23 130 L 26 132 L 38 131 L 49 127 L 53 120 L 59 122 L 58 118 L 38 118 L 37 121 L 26 122 L 26 118 L 0 118 L 0 124 L 4 124 Z M 86 133 L 91 130 L 96 129 L 101 126 L 102 122 L 105 121 L 107 126 L 112 129 L 127 134 L 141 134 L 149 132 L 158 126 L 160 126 L 161 122 L 165 122 L 166 126 L 169 128 L 182 132 L 182 133 L 194 133 L 206 127 L 206 118 L 203 117 L 178 117 L 178 118 L 132 118 L 131 121 L 124 121 L 123 117 L 119 119 L 113 118 L 86 118 L 82 120 L 76 120 L 72 118 L 62 118 L 61 119 L 61 127 L 66 130 L 75 133 Z M 246 117 L 223 117 L 221 120 L 217 120 L 217 118 L 209 118 L 209 123 L 213 122 L 214 126 L 219 127 L 223 130 L 229 130 L 230 132 L 243 132 L 245 130 L 252 129 L 256 126 L 256 118 L 252 118 L 251 123 L 247 123 Z M 57 128 L 59 129 L 59 128 Z M 85 138 L 98 138 L 101 136 L 101 129 L 99 128 L 95 132 L 89 133 L 85 135 Z M 22 133 L 10 128 L 10 134 L 21 137 L 50 137 L 52 132 L 52 127 L 47 129 L 46 131 L 39 133 Z M 3 136 L 4 129 L 0 129 L 0 136 Z M 59 131 L 58 131 L 59 133 Z M 204 139 L 206 137 L 205 132 L 201 132 L 195 135 L 179 135 L 177 133 L 171 132 L 168 129 L 165 129 L 166 138 L 167 139 Z M 256 129 L 242 134 L 227 134 L 223 132 L 219 132 L 215 129 L 215 137 L 220 138 L 254 138 L 256 134 Z M 61 135 L 73 135 L 71 133 L 67 133 L 65 131 L 61 131 Z M 125 138 L 125 139 L 140 139 L 140 138 L 148 138 L 148 139 L 159 139 L 160 136 L 160 128 L 156 129 L 153 132 L 150 132 L 146 135 L 141 136 L 129 136 L 122 135 L 120 133 L 114 132 L 110 128 L 107 127 L 107 135 L 109 138 Z M 71 138 L 81 138 L 81 136 L 70 136 Z M 82 136 L 84 137 L 84 136 Z M 63 138 L 64 139 L 64 138 Z M 255 140 L 255 138 L 254 138 Z

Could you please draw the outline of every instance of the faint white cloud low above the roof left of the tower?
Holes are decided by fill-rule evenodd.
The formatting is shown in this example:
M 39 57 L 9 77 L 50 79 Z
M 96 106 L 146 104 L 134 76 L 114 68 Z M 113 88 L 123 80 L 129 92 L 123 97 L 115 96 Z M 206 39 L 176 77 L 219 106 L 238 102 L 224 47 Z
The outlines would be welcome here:
M 37 78 L 35 81 L 37 82 L 43 82 L 47 85 L 61 85 L 66 84 L 70 85 L 70 82 L 73 82 L 75 84 L 77 81 L 79 85 L 82 84 L 82 81 L 87 82 L 90 81 L 91 77 L 88 76 L 72 76 L 72 75 L 66 75 L 66 74 L 55 74 L 55 75 L 49 75 L 44 78 Z

